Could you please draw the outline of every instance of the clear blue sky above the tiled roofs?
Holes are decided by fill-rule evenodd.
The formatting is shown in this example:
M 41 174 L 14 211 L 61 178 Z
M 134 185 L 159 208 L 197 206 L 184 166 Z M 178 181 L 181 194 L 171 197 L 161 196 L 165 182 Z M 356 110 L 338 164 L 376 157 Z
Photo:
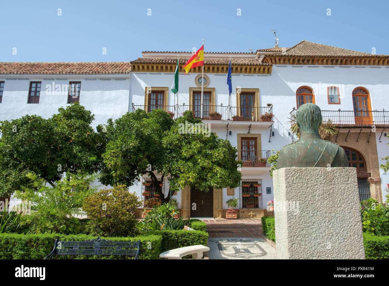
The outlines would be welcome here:
M 274 28 L 280 47 L 309 40 L 367 53 L 375 47 L 377 54 L 389 54 L 388 3 L 3 1 L 0 61 L 131 61 L 142 51 L 198 49 L 202 39 L 206 52 L 247 52 L 273 47 Z

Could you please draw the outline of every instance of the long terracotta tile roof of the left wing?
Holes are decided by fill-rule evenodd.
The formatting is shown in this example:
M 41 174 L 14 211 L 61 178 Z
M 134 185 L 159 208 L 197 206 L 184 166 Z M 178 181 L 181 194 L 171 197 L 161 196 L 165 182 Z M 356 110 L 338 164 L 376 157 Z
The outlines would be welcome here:
M 128 74 L 129 62 L 0 62 L 0 74 Z

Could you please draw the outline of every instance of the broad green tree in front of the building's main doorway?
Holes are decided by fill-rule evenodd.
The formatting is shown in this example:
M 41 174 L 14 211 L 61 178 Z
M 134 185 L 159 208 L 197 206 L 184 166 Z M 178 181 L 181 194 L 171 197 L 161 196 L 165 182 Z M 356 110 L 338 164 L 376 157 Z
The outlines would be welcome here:
M 213 133 L 187 134 L 180 132 L 185 123 L 202 123 L 191 111 L 174 120 L 161 109 L 152 112 L 136 110 L 107 123 L 107 148 L 103 154 L 103 184 L 125 184 L 148 174 L 162 202 L 161 180 L 168 178 L 171 193 L 186 185 L 202 191 L 210 187 L 235 188 L 240 183 L 237 170 L 237 149 L 228 140 Z

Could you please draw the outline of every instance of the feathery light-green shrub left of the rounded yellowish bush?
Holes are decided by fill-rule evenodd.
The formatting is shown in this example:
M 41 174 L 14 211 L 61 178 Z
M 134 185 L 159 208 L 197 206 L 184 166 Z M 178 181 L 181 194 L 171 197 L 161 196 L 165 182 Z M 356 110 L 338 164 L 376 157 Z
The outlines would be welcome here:
M 16 197 L 31 202 L 31 213 L 22 216 L 22 224 L 30 227 L 30 233 L 77 234 L 84 231 L 80 219 L 74 216 L 84 214 L 82 202 L 96 191 L 96 187 L 89 188 L 96 176 L 70 173 L 67 176 L 55 181 L 52 187 L 36 174 L 27 174 L 33 182 L 32 188 L 16 191 Z

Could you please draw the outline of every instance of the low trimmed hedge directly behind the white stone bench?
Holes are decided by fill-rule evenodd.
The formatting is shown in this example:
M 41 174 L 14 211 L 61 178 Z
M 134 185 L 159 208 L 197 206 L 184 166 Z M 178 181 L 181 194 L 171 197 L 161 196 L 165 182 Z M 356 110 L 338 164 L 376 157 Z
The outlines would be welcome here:
M 202 244 L 207 246 L 208 233 L 195 230 L 159 230 L 147 234 L 161 235 L 161 253 L 185 246 Z

